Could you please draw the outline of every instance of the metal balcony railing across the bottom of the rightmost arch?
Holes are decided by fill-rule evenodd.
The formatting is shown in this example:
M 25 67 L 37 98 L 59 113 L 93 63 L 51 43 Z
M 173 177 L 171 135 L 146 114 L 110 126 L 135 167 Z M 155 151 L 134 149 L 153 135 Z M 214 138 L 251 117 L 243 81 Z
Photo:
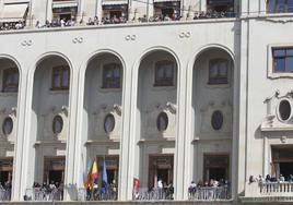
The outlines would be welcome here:
M 230 186 L 203 186 L 194 188 L 188 192 L 188 198 L 195 201 L 214 201 L 214 200 L 230 200 L 231 191 Z

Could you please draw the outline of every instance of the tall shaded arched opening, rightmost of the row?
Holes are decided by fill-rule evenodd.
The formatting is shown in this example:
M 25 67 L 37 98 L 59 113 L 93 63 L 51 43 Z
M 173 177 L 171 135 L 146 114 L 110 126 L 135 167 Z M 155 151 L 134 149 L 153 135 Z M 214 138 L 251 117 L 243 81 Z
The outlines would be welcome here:
M 233 69 L 226 50 L 210 47 L 197 56 L 192 70 L 192 181 L 220 186 L 214 191 L 223 198 L 230 197 L 232 179 Z

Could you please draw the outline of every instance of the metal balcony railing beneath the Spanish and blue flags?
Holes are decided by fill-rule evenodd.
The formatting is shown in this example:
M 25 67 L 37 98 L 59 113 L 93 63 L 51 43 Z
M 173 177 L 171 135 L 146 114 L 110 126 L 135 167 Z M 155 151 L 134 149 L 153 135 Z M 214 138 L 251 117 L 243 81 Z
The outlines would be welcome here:
M 80 188 L 78 190 L 78 201 L 117 201 L 117 189 L 108 188 L 102 191 L 101 189 L 86 190 Z

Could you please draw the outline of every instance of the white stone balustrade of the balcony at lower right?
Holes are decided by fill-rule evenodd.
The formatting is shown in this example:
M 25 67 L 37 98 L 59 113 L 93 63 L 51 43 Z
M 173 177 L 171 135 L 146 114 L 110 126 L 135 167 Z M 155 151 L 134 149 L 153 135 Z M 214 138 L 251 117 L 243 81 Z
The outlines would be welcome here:
M 292 196 L 293 182 L 262 182 L 259 183 L 260 195 Z

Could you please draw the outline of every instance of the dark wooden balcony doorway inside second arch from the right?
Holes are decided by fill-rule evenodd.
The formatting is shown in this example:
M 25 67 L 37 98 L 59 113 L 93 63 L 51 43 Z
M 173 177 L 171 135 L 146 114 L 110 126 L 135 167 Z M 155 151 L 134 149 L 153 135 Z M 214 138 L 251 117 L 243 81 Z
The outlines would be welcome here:
M 173 155 L 150 156 L 149 158 L 149 188 L 156 188 L 157 181 L 164 185 L 173 183 Z

